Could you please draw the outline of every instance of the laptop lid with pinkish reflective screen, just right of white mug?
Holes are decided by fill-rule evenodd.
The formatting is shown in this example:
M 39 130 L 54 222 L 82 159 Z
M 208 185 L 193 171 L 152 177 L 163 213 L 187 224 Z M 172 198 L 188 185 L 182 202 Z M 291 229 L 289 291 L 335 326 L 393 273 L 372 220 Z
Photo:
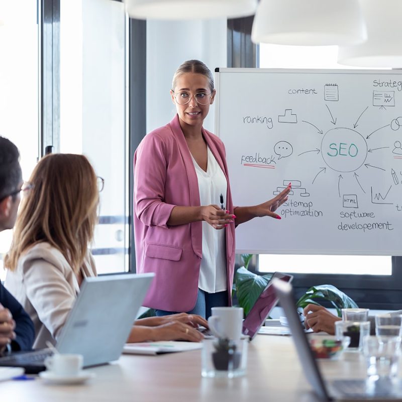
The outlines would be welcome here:
M 243 321 L 243 334 L 248 335 L 250 340 L 254 339 L 261 326 L 269 316 L 269 313 L 278 303 L 278 297 L 272 286 L 272 280 L 276 278 L 284 282 L 291 282 L 292 275 L 282 272 L 274 272 L 265 289 L 258 296 L 254 306 Z

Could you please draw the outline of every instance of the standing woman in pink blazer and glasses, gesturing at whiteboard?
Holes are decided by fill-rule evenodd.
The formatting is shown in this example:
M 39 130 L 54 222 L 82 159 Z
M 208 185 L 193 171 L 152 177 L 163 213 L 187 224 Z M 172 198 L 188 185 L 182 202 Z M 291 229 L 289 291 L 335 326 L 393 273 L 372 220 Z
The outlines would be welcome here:
M 170 95 L 177 115 L 141 141 L 134 156 L 134 233 L 138 272 L 155 272 L 145 305 L 159 316 L 204 317 L 231 305 L 235 226 L 274 211 L 289 186 L 252 207 L 234 207 L 225 147 L 203 128 L 216 90 L 209 68 L 184 62 Z

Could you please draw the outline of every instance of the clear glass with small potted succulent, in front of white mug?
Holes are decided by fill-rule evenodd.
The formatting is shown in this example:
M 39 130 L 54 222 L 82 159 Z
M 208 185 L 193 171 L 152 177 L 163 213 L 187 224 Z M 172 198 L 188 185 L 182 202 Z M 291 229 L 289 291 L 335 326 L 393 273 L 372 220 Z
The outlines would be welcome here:
M 248 339 L 205 339 L 202 351 L 203 377 L 240 377 L 247 369 Z

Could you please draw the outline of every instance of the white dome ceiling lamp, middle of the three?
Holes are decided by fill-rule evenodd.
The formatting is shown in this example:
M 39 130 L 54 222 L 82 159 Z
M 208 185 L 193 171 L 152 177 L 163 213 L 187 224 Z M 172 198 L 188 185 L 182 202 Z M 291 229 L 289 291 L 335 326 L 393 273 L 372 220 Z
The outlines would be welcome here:
M 251 33 L 255 43 L 300 46 L 349 45 L 366 38 L 358 0 L 261 0 Z

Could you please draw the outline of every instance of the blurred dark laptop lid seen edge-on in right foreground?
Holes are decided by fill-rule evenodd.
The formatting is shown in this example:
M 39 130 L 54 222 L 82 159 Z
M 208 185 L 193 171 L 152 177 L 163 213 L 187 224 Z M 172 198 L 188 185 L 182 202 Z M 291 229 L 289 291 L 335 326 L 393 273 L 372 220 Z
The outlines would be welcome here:
M 292 339 L 296 346 L 298 358 L 303 366 L 303 371 L 306 374 L 307 380 L 322 400 L 331 400 L 317 362 L 310 349 L 307 336 L 303 327 L 300 325 L 296 304 L 294 303 L 292 285 L 280 279 L 273 279 L 272 285 L 279 298 L 280 306 L 283 308 L 286 315 Z

